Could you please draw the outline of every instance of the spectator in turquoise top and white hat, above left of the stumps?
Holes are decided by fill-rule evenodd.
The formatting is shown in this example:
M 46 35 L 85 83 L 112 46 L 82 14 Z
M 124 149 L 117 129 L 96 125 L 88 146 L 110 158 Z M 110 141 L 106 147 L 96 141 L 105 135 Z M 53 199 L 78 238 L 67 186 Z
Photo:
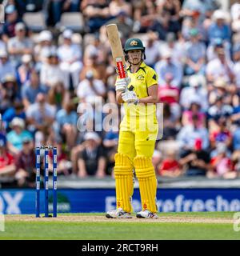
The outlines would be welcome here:
M 12 130 L 6 135 L 9 150 L 12 154 L 18 154 L 22 150 L 23 140 L 26 138 L 32 139 L 32 134 L 25 130 L 25 122 L 22 118 L 14 118 L 10 122 L 10 128 Z

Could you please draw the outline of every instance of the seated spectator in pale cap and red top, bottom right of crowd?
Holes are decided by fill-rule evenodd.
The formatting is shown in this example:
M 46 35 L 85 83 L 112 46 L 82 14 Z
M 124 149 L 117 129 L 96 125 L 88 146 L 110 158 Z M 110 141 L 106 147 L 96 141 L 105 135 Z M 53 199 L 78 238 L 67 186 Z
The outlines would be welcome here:
M 237 172 L 231 159 L 226 155 L 227 147 L 224 143 L 217 146 L 217 155 L 210 160 L 210 171 L 207 173 L 208 178 L 236 178 Z

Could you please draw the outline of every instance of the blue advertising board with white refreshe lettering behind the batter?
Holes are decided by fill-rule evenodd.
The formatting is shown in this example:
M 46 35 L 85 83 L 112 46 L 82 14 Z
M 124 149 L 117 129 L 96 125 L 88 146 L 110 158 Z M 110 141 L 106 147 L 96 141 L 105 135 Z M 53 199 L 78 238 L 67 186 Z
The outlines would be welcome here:
M 40 205 L 43 213 L 43 190 Z M 159 212 L 240 211 L 240 189 L 158 189 L 157 205 Z M 114 189 L 58 190 L 58 213 L 105 212 L 114 207 Z M 139 190 L 134 190 L 133 207 L 134 211 L 141 210 Z M 0 213 L 34 214 L 35 190 L 0 190 Z

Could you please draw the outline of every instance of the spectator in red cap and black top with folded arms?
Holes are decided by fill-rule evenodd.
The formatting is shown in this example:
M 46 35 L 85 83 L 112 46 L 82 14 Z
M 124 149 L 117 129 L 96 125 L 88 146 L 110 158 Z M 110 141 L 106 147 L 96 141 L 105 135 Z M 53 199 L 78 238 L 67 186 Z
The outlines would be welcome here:
M 179 163 L 185 168 L 187 176 L 206 176 L 210 166 L 210 157 L 202 148 L 201 138 L 195 138 L 193 148 L 182 152 Z

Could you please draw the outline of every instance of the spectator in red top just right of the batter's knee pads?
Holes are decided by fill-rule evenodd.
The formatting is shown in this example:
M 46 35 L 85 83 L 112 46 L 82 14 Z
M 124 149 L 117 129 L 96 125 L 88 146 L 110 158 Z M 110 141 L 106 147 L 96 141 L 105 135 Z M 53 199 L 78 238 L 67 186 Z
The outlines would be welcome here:
M 181 167 L 174 151 L 169 150 L 166 152 L 166 158 L 162 161 L 158 174 L 163 177 L 171 178 L 179 177 L 182 174 Z

